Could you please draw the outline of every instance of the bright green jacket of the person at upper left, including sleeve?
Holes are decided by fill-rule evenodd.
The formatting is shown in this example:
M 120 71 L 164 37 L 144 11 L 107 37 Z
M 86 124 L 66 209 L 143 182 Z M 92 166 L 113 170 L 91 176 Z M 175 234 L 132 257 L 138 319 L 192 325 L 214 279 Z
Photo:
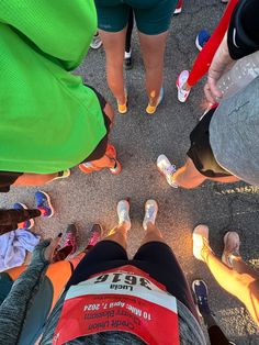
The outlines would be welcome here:
M 68 71 L 95 30 L 93 0 L 0 1 L 0 170 L 64 170 L 106 134 L 94 92 Z

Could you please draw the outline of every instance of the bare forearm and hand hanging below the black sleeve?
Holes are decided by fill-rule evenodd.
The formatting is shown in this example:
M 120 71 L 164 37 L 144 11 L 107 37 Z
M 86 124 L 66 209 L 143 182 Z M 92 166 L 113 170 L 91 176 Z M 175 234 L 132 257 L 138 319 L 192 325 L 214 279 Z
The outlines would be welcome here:
M 204 87 L 204 92 L 210 103 L 214 104 L 222 98 L 222 92 L 217 88 L 217 81 L 223 76 L 224 71 L 233 65 L 233 63 L 234 60 L 228 52 L 226 33 L 214 55 L 207 74 L 207 82 Z

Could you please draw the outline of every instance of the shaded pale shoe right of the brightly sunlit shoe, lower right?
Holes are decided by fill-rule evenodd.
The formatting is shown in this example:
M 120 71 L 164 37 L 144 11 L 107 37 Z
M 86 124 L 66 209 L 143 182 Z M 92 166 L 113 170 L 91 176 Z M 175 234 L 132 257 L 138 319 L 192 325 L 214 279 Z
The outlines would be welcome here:
M 240 256 L 240 238 L 235 231 L 228 231 L 224 236 L 224 251 L 222 254 L 222 261 L 233 268 L 232 256 Z

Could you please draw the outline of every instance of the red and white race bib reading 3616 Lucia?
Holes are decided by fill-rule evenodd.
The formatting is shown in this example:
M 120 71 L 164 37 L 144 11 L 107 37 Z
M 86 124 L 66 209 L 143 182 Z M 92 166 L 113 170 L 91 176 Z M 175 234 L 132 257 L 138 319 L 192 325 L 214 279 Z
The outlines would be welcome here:
M 150 345 L 178 345 L 177 300 L 131 265 L 71 286 L 53 344 L 105 331 L 130 332 Z

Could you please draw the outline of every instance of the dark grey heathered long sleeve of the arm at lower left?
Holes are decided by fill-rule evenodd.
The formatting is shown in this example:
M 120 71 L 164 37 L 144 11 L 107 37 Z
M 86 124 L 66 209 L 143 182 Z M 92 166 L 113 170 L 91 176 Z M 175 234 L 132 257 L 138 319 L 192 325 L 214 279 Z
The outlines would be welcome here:
M 27 309 L 41 286 L 49 265 L 44 258 L 44 249 L 49 241 L 44 241 L 33 252 L 32 263 L 15 280 L 11 291 L 0 307 L 0 344 L 18 344 Z

